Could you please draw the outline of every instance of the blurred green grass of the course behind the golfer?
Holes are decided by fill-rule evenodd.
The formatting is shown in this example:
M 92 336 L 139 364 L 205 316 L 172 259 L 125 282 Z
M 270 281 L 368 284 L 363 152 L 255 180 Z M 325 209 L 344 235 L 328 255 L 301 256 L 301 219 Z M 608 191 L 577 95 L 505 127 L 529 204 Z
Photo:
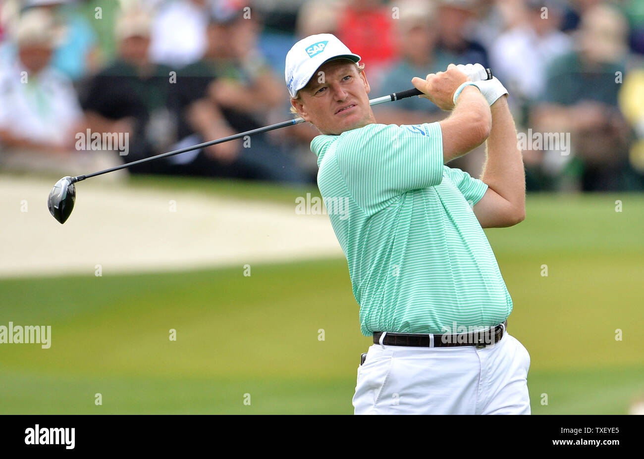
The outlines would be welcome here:
M 292 193 L 228 186 L 205 192 Z M 620 414 L 644 395 L 643 209 L 637 194 L 534 195 L 526 221 L 486 230 L 513 297 L 509 331 L 531 354 L 533 413 Z M 0 413 L 352 413 L 370 339 L 359 333 L 346 262 L 251 274 L 0 281 L 0 324 L 52 326 L 48 350 L 0 346 Z

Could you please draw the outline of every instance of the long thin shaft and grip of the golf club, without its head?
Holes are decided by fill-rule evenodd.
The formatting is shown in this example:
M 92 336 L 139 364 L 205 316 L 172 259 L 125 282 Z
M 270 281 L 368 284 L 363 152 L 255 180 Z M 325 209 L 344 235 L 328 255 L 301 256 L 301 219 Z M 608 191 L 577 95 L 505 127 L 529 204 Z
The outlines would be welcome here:
M 489 71 L 489 69 L 488 69 L 488 75 L 491 75 L 491 71 Z M 419 91 L 418 89 L 411 88 L 411 89 L 406 89 L 405 91 L 398 91 L 398 92 L 392 93 L 392 94 L 390 94 L 388 96 L 374 98 L 374 99 L 369 101 L 369 104 L 373 106 L 373 105 L 383 104 L 384 102 L 393 102 L 394 100 L 401 100 L 403 98 L 413 97 L 413 96 L 417 96 L 417 95 L 421 95 L 421 94 L 422 94 L 422 92 Z M 175 151 L 169 151 L 167 153 L 161 153 L 160 155 L 150 156 L 149 158 L 143 158 L 142 160 L 117 165 L 115 167 L 110 167 L 109 169 L 105 169 L 104 171 L 99 171 L 99 172 L 95 172 L 95 173 L 87 174 L 87 175 L 79 175 L 79 176 L 71 178 L 71 183 L 81 182 L 81 180 L 85 180 L 86 178 L 95 177 L 97 175 L 102 175 L 102 174 L 107 174 L 109 172 L 120 171 L 120 169 L 125 169 L 126 167 L 130 167 L 132 165 L 142 164 L 144 162 L 154 161 L 154 160 L 158 160 L 160 158 L 166 158 L 167 156 L 180 155 L 180 153 L 186 153 L 187 151 L 193 151 L 193 150 L 197 150 L 197 149 L 200 149 L 200 148 L 209 147 L 211 145 L 223 144 L 223 142 L 229 142 L 230 140 L 236 140 L 238 138 L 243 138 L 243 137 L 245 137 L 247 135 L 261 134 L 261 133 L 265 133 L 265 132 L 268 132 L 268 131 L 273 131 L 274 129 L 279 129 L 280 127 L 293 126 L 294 124 L 301 124 L 303 122 L 304 122 L 303 118 L 294 118 L 292 120 L 283 121 L 281 123 L 271 124 L 270 126 L 258 127 L 258 129 L 252 129 L 251 131 L 246 131 L 246 132 L 242 132 L 242 133 L 239 133 L 239 134 L 235 134 L 235 135 L 231 135 L 231 136 L 227 136 L 227 137 L 223 137 L 223 138 L 218 138 L 217 140 L 211 140 L 209 142 L 204 142 L 203 144 L 196 144 L 196 145 L 193 145 L 191 147 L 185 147 L 185 148 L 178 149 L 178 150 L 175 150 Z

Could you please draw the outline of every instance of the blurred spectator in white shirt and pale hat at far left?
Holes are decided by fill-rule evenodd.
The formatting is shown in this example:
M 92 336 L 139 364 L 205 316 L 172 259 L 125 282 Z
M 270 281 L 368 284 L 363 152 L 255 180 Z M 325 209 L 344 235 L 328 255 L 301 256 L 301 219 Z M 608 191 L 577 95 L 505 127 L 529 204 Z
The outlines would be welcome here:
M 28 8 L 15 24 L 17 55 L 0 76 L 3 169 L 73 175 L 118 164 L 109 153 L 76 150 L 84 117 L 71 81 L 51 66 L 63 33 L 47 8 Z

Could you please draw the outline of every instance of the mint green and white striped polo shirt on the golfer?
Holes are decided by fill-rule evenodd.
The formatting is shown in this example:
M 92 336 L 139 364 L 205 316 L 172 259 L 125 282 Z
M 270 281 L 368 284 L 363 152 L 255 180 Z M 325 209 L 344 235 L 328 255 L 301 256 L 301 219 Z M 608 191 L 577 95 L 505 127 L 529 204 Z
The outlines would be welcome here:
M 311 151 L 363 335 L 461 333 L 507 319 L 512 299 L 472 210 L 488 185 L 443 164 L 437 122 L 319 135 Z

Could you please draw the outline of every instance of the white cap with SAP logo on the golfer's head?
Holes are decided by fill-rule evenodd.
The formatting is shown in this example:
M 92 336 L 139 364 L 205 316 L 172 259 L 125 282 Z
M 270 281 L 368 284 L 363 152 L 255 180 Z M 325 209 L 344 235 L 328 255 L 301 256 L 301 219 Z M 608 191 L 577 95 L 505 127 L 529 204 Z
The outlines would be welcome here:
M 360 62 L 360 56 L 350 52 L 349 48 L 331 33 L 309 35 L 294 44 L 286 55 L 285 77 L 290 96 L 296 97 L 298 91 L 307 86 L 308 80 L 319 66 L 341 57 L 356 64 Z

